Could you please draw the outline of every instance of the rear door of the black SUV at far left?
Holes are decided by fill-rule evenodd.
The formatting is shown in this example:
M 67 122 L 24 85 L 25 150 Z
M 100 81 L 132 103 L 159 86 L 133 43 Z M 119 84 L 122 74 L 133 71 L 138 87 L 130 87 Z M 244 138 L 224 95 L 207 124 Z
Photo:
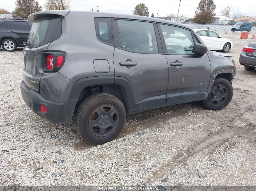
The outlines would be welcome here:
M 9 25 L 8 33 L 11 37 L 14 37 L 17 42 L 18 46 L 23 45 L 23 42 L 27 42 L 28 34 L 29 34 L 29 27 L 27 21 L 12 21 Z

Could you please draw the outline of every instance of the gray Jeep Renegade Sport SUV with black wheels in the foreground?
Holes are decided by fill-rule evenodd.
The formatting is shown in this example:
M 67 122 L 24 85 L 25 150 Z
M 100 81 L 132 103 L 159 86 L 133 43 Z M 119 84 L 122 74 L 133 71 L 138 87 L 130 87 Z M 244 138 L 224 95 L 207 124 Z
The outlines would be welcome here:
M 28 19 L 23 100 L 51 123 L 69 123 L 75 111 L 87 142 L 114 139 L 126 114 L 195 100 L 220 110 L 231 101 L 234 61 L 211 53 L 183 24 L 83 11 Z

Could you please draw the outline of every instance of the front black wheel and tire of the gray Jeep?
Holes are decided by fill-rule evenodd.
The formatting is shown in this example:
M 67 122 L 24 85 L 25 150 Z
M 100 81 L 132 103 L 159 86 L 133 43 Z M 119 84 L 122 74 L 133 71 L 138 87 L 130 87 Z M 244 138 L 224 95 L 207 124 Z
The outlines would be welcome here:
M 221 110 L 226 107 L 233 97 L 233 87 L 225 78 L 217 78 L 210 94 L 203 100 L 203 106 L 208 110 Z

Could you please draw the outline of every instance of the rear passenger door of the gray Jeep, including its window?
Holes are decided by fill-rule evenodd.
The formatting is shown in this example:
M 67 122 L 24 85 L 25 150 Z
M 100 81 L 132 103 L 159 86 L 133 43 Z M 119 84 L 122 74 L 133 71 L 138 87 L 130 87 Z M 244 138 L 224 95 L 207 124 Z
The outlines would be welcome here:
M 112 25 L 115 76 L 130 82 L 136 109 L 165 105 L 168 65 L 156 24 L 113 19 Z

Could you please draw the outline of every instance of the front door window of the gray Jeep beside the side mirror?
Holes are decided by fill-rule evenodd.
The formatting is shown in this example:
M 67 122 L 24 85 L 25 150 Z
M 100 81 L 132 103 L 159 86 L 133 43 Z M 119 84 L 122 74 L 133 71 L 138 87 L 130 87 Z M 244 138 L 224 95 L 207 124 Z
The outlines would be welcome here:
M 160 27 L 168 53 L 194 55 L 194 41 L 190 30 L 163 24 Z

